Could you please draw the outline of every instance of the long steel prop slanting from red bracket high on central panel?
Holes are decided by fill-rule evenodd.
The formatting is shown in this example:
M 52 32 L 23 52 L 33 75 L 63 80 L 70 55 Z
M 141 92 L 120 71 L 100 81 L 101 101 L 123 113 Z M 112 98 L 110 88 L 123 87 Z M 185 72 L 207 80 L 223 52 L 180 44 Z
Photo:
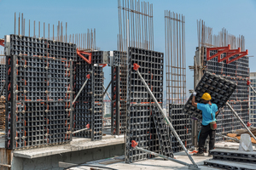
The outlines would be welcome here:
M 148 94 L 150 94 L 151 98 L 153 98 L 155 105 L 157 105 L 158 109 L 160 110 L 162 116 L 165 117 L 165 120 L 167 122 L 167 125 L 171 128 L 172 133 L 174 134 L 174 136 L 176 137 L 176 139 L 178 140 L 178 143 L 182 146 L 183 150 L 185 151 L 185 153 L 187 154 L 187 156 L 189 157 L 189 160 L 193 163 L 193 169 L 199 169 L 198 166 L 196 165 L 195 161 L 193 160 L 192 156 L 189 155 L 188 150 L 186 149 L 186 147 L 184 146 L 182 140 L 179 138 L 179 136 L 177 135 L 176 130 L 174 129 L 174 127 L 172 127 L 172 123 L 169 121 L 168 117 L 165 115 L 164 111 L 162 110 L 161 106 L 159 105 L 157 99 L 155 99 L 154 94 L 151 92 L 150 88 L 148 88 L 148 84 L 147 82 L 145 82 L 144 78 L 142 77 L 140 71 L 138 71 L 138 68 L 140 67 L 140 65 L 137 65 L 136 63 L 133 64 L 133 70 L 137 71 L 138 76 L 141 78 L 145 88 L 148 90 Z M 189 168 L 192 168 L 191 165 L 189 165 Z

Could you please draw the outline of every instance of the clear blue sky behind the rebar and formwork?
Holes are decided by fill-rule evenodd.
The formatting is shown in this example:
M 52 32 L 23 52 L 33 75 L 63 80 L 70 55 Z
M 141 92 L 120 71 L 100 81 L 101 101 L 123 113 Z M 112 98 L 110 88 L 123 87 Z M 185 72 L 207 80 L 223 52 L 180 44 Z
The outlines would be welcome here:
M 193 65 L 197 46 L 196 20 L 204 20 L 213 28 L 213 33 L 224 27 L 238 37 L 244 35 L 249 55 L 256 57 L 256 1 L 253 0 L 148 0 L 154 5 L 154 50 L 165 52 L 164 11 L 183 14 L 186 17 L 186 69 L 187 89 L 193 87 Z M 96 45 L 102 50 L 115 50 L 118 34 L 117 0 L 0 0 L 0 38 L 14 33 L 14 15 L 24 13 L 28 20 L 57 25 L 58 20 L 67 22 L 67 33 L 83 33 L 87 28 L 96 28 Z M 28 26 L 26 26 L 26 35 Z M 0 51 L 3 48 L 0 48 Z M 256 58 L 250 58 L 250 70 L 256 72 Z M 110 69 L 105 69 L 105 85 L 108 85 Z

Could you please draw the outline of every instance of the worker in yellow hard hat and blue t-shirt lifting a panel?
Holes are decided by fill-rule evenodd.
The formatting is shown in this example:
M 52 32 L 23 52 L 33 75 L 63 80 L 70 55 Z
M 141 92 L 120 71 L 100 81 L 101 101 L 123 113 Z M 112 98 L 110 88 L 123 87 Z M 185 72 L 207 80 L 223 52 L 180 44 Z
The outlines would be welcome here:
M 199 133 L 198 146 L 199 150 L 193 156 L 204 156 L 204 145 L 206 143 L 208 135 L 210 136 L 209 141 L 209 150 L 214 149 L 215 144 L 215 130 L 212 130 L 210 123 L 216 122 L 216 116 L 218 116 L 218 106 L 211 103 L 211 95 L 205 93 L 201 96 L 203 103 L 195 103 L 196 92 L 193 92 L 192 105 L 197 109 L 202 111 L 202 122 L 201 122 L 201 131 Z M 223 109 L 223 108 L 222 108 Z M 217 126 L 217 125 L 216 125 Z M 209 155 L 210 156 L 210 155 Z

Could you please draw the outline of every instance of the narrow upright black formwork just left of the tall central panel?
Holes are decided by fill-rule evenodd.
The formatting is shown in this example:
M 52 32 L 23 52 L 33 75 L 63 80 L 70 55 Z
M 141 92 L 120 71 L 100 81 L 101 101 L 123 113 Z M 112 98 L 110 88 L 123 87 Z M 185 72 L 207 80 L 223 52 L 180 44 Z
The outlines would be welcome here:
M 126 84 L 127 84 L 127 56 L 124 52 L 113 51 L 112 66 L 112 116 L 111 133 L 120 135 L 125 133 L 126 122 Z

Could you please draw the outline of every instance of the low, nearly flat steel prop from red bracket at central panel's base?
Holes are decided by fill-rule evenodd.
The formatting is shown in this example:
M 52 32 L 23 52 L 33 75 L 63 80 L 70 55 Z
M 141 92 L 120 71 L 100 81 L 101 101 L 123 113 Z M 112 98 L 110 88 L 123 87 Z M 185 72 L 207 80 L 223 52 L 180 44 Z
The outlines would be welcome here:
M 192 166 L 192 165 L 190 165 L 189 163 L 186 163 L 186 162 L 184 162 L 184 161 L 178 161 L 178 160 L 176 160 L 176 159 L 174 159 L 174 158 L 172 158 L 172 157 L 163 156 L 163 155 L 157 154 L 157 153 L 155 153 L 155 152 L 153 152 L 153 151 L 145 150 L 145 149 L 143 149 L 143 148 L 137 147 L 137 142 L 136 142 L 135 140 L 131 140 L 131 147 L 134 148 L 134 149 L 136 149 L 136 150 L 141 150 L 141 151 L 143 151 L 143 152 L 146 152 L 146 153 L 148 153 L 148 154 L 150 154 L 150 155 L 152 155 L 152 156 L 159 156 L 159 157 L 162 157 L 162 158 L 167 159 L 167 160 L 169 160 L 169 161 L 175 161 L 175 162 L 177 162 L 177 163 L 179 163 L 179 164 L 182 164 L 182 165 L 184 165 L 184 166 L 188 166 L 188 167 L 191 167 L 191 166 Z M 192 166 L 192 167 L 193 167 L 193 166 Z

